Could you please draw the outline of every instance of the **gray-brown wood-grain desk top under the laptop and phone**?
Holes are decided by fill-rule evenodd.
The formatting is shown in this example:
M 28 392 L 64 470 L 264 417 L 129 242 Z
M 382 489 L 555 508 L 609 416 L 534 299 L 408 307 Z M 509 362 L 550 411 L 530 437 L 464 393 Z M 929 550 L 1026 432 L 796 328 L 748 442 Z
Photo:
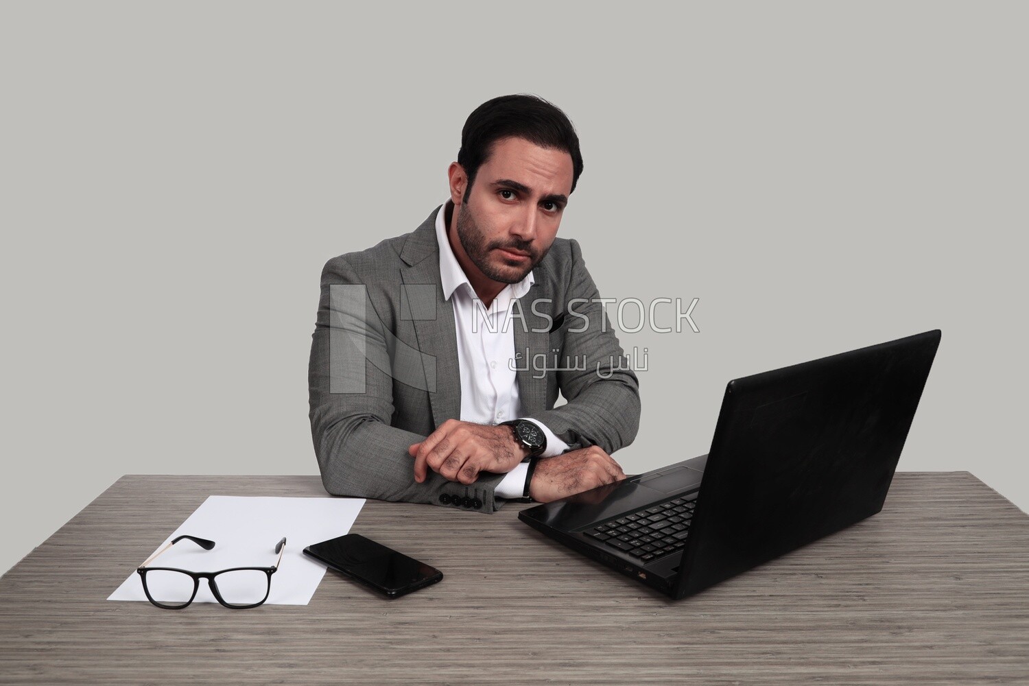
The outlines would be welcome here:
M 309 606 L 246 611 L 104 600 L 210 494 L 325 495 L 119 479 L 0 579 L 0 683 L 1029 683 L 1029 517 L 965 472 L 897 474 L 879 515 L 678 603 L 519 506 L 376 501 L 353 531 L 441 583 L 387 601 L 329 572 Z

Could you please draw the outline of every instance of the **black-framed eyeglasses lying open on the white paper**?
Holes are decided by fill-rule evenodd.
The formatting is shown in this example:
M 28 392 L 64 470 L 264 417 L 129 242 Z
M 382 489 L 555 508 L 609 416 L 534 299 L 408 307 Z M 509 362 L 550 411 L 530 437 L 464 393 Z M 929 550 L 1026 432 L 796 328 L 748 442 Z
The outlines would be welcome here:
M 214 547 L 214 541 L 206 538 L 179 536 L 147 557 L 146 562 L 136 570 L 143 580 L 143 591 L 147 599 L 158 608 L 181 610 L 192 603 L 197 597 L 197 589 L 200 588 L 201 579 L 207 579 L 214 598 L 226 608 L 234 610 L 255 608 L 268 600 L 269 591 L 272 590 L 272 575 L 282 564 L 282 553 L 286 550 L 285 538 L 275 546 L 279 559 L 273 567 L 234 567 L 220 572 L 188 572 L 171 567 L 147 567 L 157 555 L 182 539 L 188 539 L 205 550 Z M 218 585 L 219 582 L 221 586 Z

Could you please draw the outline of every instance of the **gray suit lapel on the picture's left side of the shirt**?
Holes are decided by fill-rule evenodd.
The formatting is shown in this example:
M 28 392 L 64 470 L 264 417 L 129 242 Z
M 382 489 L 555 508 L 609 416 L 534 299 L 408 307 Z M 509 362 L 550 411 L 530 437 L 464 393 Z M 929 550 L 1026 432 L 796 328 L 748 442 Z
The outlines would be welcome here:
M 454 308 L 443 299 L 440 285 L 435 221 L 433 212 L 415 229 L 400 252 L 406 264 L 400 269 L 405 287 L 400 295 L 400 316 L 412 319 L 415 325 L 432 422 L 438 427 L 447 420 L 461 419 L 461 370 L 457 361 Z M 412 303 L 417 306 L 412 308 Z

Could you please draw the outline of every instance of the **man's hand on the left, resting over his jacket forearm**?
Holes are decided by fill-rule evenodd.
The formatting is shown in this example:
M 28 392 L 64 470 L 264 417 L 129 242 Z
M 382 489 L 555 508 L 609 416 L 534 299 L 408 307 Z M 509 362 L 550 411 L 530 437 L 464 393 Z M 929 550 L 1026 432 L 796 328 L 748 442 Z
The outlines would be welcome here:
M 451 481 L 473 483 L 478 472 L 503 474 L 514 469 L 528 448 L 514 440 L 509 426 L 447 420 L 407 453 L 415 458 L 415 480 L 425 480 L 426 466 Z

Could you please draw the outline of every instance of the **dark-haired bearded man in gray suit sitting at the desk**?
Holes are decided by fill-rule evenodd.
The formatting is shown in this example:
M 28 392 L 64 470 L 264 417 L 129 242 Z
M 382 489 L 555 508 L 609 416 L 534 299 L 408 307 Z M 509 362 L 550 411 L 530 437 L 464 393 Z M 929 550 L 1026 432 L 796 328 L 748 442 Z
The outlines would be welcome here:
M 493 512 L 625 478 L 610 454 L 636 436 L 637 378 L 556 238 L 581 172 L 560 109 L 495 98 L 465 122 L 447 203 L 325 264 L 309 383 L 326 491 Z

